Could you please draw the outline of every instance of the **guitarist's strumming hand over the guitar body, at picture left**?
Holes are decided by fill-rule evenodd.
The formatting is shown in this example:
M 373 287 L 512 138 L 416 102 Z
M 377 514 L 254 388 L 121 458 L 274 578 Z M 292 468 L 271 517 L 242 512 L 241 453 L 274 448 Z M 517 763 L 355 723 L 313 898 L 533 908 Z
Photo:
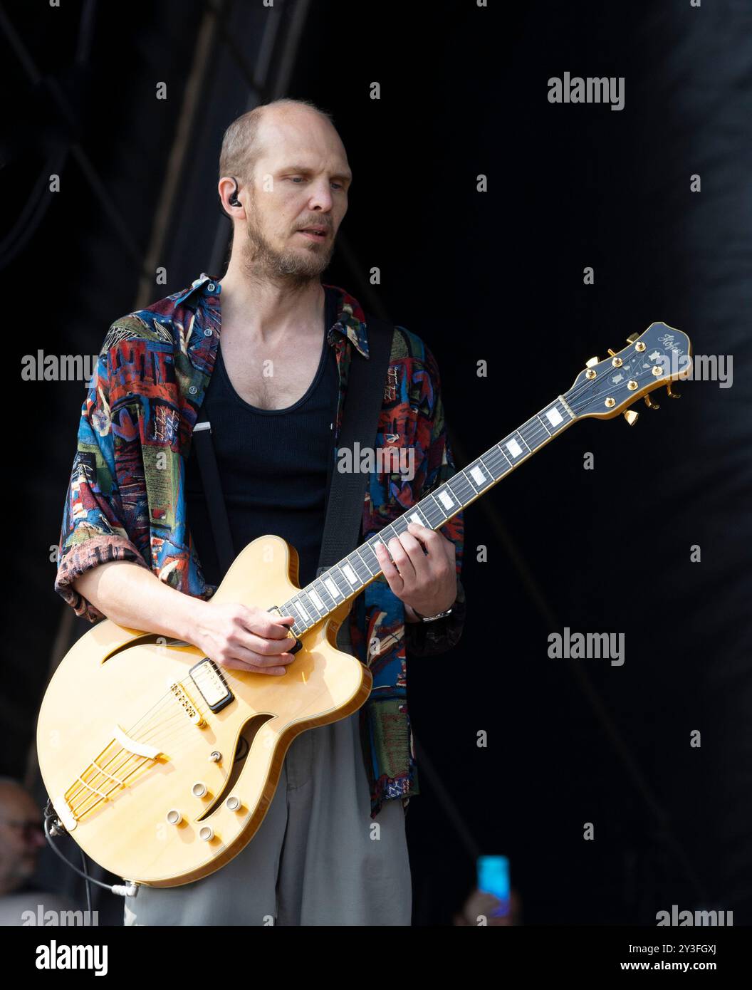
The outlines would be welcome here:
M 284 674 L 295 656 L 288 627 L 294 616 L 280 618 L 263 609 L 237 602 L 196 601 L 195 633 L 191 643 L 211 660 L 232 670 Z

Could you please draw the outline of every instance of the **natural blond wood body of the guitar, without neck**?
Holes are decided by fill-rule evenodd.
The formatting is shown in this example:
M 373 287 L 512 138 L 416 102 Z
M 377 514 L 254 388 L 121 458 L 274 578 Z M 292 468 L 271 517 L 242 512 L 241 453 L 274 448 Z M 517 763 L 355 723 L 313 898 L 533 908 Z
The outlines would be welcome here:
M 214 600 L 281 606 L 297 579 L 297 552 L 260 537 L 236 557 Z M 154 887 L 200 879 L 232 859 L 261 824 L 295 737 L 368 698 L 370 671 L 334 645 L 350 605 L 302 637 L 283 676 L 217 665 L 233 695 L 219 711 L 190 674 L 203 658 L 195 646 L 109 620 L 86 633 L 47 687 L 37 732 L 47 793 L 81 848 Z

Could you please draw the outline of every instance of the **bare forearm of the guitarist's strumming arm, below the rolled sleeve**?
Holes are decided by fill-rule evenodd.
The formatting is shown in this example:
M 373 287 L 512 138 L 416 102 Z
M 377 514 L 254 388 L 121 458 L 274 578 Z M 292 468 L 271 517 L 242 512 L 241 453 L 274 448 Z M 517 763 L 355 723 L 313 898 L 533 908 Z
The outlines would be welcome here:
M 108 619 L 128 629 L 193 643 L 196 621 L 206 602 L 185 595 L 128 560 L 92 567 L 73 587 Z

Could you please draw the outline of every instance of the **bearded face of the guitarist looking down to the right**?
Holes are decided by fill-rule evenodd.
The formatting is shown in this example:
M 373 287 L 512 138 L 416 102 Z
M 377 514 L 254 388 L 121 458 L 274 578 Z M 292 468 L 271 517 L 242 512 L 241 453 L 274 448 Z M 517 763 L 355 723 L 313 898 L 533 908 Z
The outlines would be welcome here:
M 304 284 L 329 264 L 351 180 L 336 132 L 314 114 L 263 121 L 243 198 L 248 271 Z

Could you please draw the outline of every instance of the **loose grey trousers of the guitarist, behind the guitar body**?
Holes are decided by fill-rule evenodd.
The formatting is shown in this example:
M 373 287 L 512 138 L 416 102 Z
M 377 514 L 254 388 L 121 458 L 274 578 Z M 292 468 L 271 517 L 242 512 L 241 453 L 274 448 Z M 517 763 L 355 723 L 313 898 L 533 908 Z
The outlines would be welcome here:
M 410 925 L 407 809 L 387 801 L 371 819 L 358 714 L 296 737 L 235 859 L 181 887 L 140 887 L 125 925 Z

